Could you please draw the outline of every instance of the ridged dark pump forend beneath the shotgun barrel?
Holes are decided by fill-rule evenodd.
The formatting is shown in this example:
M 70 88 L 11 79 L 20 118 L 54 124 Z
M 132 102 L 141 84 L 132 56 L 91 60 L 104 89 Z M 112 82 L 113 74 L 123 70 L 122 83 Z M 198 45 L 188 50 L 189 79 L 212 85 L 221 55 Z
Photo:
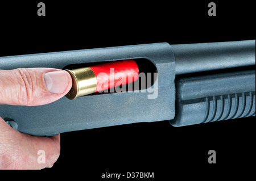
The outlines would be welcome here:
M 176 81 L 176 127 L 255 116 L 255 70 Z

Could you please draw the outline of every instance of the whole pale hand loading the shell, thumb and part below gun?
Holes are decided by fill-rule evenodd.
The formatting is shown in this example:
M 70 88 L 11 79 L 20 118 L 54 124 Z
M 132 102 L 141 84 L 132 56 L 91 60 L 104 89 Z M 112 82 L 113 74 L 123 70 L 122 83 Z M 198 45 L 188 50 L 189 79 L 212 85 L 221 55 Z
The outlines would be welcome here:
M 67 94 L 71 86 L 71 76 L 64 70 L 0 70 L 0 104 L 49 104 Z M 39 150 L 45 151 L 46 163 L 38 162 Z M 59 155 L 60 134 L 52 137 L 30 136 L 11 128 L 0 117 L 0 169 L 44 169 L 52 167 Z

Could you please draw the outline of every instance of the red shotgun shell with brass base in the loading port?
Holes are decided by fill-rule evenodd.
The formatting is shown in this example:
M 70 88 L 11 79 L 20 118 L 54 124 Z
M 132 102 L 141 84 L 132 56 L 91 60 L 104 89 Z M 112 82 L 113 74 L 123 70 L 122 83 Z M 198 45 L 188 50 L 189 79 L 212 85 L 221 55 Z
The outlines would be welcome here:
M 137 81 L 139 77 L 138 65 L 132 59 L 67 71 L 73 81 L 72 89 L 66 95 L 68 99 L 126 85 Z

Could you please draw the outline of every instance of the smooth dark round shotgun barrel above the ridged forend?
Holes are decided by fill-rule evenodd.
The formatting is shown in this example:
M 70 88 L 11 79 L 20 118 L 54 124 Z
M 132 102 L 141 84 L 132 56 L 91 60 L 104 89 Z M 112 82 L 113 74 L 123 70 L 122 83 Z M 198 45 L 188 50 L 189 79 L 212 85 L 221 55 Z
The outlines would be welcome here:
M 176 75 L 255 65 L 255 40 L 171 47 L 175 56 Z

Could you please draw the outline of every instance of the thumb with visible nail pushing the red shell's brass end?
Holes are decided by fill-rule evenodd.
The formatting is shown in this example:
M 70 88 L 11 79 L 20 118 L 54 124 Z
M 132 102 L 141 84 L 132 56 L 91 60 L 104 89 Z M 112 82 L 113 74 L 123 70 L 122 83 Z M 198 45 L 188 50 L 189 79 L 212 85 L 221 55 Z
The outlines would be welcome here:
M 67 71 L 50 68 L 0 70 L 0 104 L 39 106 L 62 98 L 72 87 Z

